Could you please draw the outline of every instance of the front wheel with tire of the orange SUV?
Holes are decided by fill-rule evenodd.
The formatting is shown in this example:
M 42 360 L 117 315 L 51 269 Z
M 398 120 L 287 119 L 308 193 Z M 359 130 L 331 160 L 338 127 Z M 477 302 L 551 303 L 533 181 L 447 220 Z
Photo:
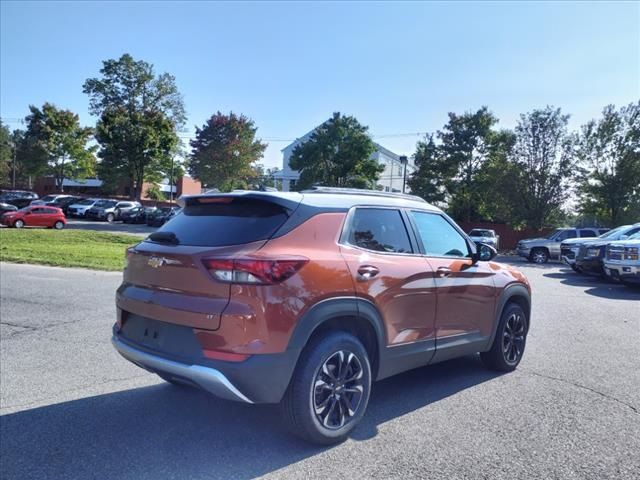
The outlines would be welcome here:
M 482 363 L 498 372 L 515 370 L 524 355 L 528 332 L 529 319 L 522 307 L 508 303 L 500 316 L 491 349 L 480 353 Z

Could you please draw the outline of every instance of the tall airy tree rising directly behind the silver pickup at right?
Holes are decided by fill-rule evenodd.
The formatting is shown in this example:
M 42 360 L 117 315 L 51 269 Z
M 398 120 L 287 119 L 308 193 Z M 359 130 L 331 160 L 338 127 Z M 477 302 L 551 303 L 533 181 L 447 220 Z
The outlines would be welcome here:
M 520 168 L 513 179 L 522 201 L 527 226 L 541 229 L 562 213 L 567 200 L 575 157 L 569 115 L 547 106 L 520 115 L 511 161 Z

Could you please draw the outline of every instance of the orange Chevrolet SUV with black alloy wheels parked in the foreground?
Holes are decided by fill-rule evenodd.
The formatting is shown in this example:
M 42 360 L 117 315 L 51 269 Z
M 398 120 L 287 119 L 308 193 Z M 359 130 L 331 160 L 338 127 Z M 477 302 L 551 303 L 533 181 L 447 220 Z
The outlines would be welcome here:
M 315 443 L 347 437 L 371 384 L 480 352 L 524 353 L 531 290 L 410 195 L 316 188 L 181 199 L 127 251 L 113 345 L 174 384 L 281 403 Z

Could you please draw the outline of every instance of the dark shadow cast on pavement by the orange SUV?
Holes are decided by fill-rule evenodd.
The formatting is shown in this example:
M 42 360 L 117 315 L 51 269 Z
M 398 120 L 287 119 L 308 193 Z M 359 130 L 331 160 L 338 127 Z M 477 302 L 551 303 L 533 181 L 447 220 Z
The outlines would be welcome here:
M 376 383 L 353 439 L 371 438 L 386 421 L 496 376 L 472 356 Z M 0 438 L 2 477 L 20 479 L 248 479 L 330 448 L 291 436 L 275 405 L 227 402 L 169 384 L 7 414 Z

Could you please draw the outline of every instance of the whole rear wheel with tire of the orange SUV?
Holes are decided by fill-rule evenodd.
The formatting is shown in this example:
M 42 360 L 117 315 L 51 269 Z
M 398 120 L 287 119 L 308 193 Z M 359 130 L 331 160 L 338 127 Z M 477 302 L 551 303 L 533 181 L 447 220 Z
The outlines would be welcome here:
M 353 335 L 333 332 L 303 350 L 281 407 L 294 435 L 331 445 L 344 441 L 362 420 L 370 394 L 367 351 Z

